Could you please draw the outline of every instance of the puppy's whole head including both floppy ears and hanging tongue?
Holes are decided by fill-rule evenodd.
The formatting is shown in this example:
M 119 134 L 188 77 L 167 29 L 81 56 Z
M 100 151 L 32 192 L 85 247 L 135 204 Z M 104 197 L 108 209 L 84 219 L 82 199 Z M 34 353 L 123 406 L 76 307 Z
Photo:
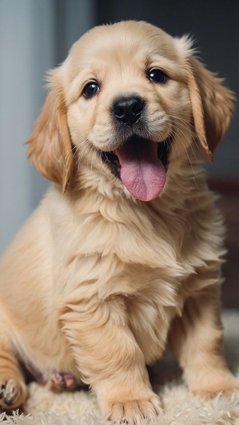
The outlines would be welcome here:
M 49 79 L 28 155 L 63 191 L 74 161 L 87 159 L 99 178 L 106 168 L 135 198 L 153 199 L 194 136 L 212 161 L 233 110 L 233 94 L 194 58 L 190 40 L 145 22 L 93 28 Z

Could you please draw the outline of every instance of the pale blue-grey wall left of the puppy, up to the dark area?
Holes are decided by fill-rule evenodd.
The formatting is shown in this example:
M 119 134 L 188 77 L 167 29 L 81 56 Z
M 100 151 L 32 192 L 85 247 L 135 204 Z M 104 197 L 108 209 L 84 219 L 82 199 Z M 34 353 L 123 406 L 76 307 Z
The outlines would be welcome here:
M 48 183 L 26 161 L 46 92 L 44 72 L 94 25 L 93 0 L 0 1 L 0 253 Z

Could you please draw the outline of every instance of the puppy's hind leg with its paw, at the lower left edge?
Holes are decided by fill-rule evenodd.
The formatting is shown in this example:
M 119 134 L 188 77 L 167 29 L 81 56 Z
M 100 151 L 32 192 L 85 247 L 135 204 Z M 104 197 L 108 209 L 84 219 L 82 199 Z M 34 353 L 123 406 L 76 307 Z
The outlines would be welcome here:
M 6 328 L 0 330 L 0 410 L 20 407 L 27 398 L 24 376 Z

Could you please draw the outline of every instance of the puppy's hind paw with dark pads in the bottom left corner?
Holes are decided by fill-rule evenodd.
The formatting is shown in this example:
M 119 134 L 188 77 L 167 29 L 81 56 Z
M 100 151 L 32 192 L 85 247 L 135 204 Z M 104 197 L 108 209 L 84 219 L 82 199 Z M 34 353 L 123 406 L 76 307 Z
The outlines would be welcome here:
M 13 410 L 21 406 L 27 398 L 24 382 L 0 377 L 0 410 Z

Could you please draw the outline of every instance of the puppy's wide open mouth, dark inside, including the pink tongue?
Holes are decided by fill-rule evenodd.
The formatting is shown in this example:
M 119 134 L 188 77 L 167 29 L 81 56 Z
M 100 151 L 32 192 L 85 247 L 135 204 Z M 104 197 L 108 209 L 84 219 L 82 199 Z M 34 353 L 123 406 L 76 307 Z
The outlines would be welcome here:
M 170 137 L 154 142 L 133 135 L 114 151 L 102 151 L 101 158 L 135 198 L 149 201 L 165 185 L 169 144 Z

